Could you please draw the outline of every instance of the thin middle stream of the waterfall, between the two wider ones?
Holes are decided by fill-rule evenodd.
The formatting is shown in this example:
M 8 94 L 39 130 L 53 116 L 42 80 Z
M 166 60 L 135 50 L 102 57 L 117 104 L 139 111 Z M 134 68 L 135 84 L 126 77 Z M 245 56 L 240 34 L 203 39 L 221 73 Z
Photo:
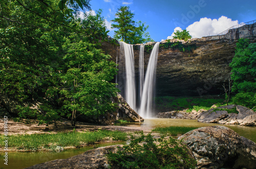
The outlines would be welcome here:
M 140 101 L 141 101 L 143 85 L 144 85 L 144 45 L 140 45 L 139 78 L 140 78 Z

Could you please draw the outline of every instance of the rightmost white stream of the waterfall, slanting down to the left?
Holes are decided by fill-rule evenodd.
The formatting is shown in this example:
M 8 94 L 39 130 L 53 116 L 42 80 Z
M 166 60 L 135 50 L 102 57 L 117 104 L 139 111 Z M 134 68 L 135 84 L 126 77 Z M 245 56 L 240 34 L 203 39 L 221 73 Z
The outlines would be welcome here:
M 151 52 L 148 61 L 146 76 L 144 80 L 142 98 L 140 103 L 139 115 L 143 118 L 152 118 L 153 96 L 155 87 L 155 75 L 160 42 L 157 42 Z

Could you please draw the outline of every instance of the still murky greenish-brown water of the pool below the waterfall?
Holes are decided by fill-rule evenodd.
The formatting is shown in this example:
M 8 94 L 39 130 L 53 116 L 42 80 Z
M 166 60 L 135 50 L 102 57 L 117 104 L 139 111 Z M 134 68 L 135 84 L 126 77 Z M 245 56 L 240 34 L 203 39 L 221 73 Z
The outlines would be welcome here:
M 155 128 L 155 127 L 168 127 L 168 126 L 188 126 L 188 127 L 204 127 L 216 126 L 219 124 L 214 123 L 200 123 L 197 120 L 183 120 L 183 119 L 145 119 L 143 123 L 129 123 L 127 126 L 136 128 Z M 239 125 L 221 125 L 231 128 L 241 136 L 244 136 L 256 143 L 256 127 L 246 127 Z M 119 143 L 105 143 L 99 144 L 97 147 L 104 147 L 110 145 L 125 144 Z M 93 147 L 85 147 L 75 150 L 65 150 L 60 153 L 56 152 L 9 152 L 8 153 L 8 166 L 4 164 L 4 152 L 0 152 L 0 168 L 25 168 L 34 164 L 55 160 L 69 158 L 78 154 L 82 154 Z

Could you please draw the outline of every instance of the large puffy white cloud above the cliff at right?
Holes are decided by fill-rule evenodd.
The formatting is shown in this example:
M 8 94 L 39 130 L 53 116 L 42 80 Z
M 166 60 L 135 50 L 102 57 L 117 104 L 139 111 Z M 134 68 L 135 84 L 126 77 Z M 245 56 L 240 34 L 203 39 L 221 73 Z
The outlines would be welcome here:
M 189 31 L 193 38 L 202 38 L 204 36 L 218 35 L 237 24 L 239 24 L 238 20 L 232 20 L 226 16 L 221 16 L 219 19 L 205 17 L 187 26 L 186 30 Z

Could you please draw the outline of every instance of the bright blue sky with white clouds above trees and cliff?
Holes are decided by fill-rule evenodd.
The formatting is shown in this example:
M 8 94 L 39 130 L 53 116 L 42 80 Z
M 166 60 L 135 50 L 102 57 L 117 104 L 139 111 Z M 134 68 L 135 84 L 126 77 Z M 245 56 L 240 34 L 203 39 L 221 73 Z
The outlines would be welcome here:
M 193 38 L 217 35 L 229 27 L 256 19 L 256 1 L 226 0 L 91 0 L 93 11 L 102 9 L 106 26 L 120 6 L 129 6 L 134 20 L 150 25 L 147 32 L 155 41 L 172 39 L 175 30 L 187 29 Z

